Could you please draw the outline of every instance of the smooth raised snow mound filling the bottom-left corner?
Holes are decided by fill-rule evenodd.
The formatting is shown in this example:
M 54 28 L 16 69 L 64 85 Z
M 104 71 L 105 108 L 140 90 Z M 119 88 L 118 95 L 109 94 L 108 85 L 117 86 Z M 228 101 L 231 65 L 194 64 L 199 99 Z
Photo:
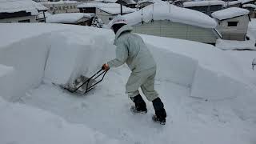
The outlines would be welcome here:
M 1 97 L 0 111 L 1 143 L 123 143 L 85 125 L 70 124 L 45 110 L 5 102 Z

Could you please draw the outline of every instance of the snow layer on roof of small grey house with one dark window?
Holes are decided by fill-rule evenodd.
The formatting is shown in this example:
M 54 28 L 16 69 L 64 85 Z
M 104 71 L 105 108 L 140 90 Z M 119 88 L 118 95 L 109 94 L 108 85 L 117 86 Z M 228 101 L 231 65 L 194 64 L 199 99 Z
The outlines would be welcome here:
M 229 19 L 234 17 L 239 17 L 242 15 L 249 14 L 249 10 L 238 8 L 238 7 L 230 7 L 224 10 L 218 10 L 211 14 L 212 17 L 217 18 L 218 20 Z

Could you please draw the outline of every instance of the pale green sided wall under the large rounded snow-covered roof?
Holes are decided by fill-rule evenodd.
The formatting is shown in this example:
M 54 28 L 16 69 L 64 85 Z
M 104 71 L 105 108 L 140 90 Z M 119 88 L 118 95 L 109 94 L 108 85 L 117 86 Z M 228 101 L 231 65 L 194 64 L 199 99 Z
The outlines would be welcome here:
M 133 26 L 134 33 L 167 38 L 180 38 L 196 42 L 215 43 L 217 37 L 211 29 L 170 21 L 154 21 Z

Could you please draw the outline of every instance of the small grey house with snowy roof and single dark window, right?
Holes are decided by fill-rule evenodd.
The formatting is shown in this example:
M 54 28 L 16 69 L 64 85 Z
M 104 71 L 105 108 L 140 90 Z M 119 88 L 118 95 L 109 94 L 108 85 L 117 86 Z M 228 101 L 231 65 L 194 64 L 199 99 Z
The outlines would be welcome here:
M 222 39 L 244 41 L 250 22 L 249 12 L 238 7 L 214 12 L 212 16 L 218 21 L 217 30 L 222 34 Z

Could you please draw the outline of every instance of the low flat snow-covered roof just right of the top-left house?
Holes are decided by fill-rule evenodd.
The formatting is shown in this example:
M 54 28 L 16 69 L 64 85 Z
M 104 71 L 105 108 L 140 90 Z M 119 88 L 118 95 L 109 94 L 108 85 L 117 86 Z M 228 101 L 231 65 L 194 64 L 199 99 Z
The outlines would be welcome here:
M 91 18 L 94 14 L 65 13 L 53 14 L 46 18 L 47 23 L 78 22 L 82 18 Z

